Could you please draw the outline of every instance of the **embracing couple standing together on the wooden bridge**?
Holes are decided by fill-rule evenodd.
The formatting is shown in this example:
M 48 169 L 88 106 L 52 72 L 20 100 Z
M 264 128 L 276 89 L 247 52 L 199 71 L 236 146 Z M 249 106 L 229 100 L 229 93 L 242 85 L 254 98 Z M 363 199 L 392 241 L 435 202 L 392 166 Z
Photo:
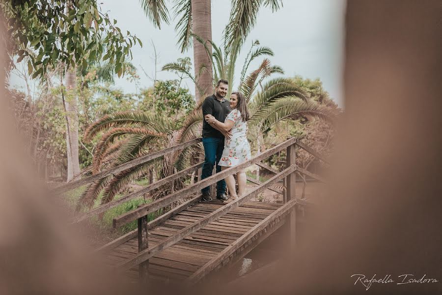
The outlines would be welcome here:
M 204 116 L 202 128 L 202 143 L 204 146 L 204 164 L 201 179 L 212 175 L 213 166 L 217 173 L 221 170 L 236 166 L 250 159 L 250 146 L 247 141 L 247 121 L 249 110 L 247 100 L 241 92 L 232 92 L 227 100 L 228 83 L 220 80 L 215 88 L 215 94 L 205 98 L 202 104 Z M 228 202 L 225 187 L 229 189 L 233 200 L 244 195 L 246 173 L 238 171 L 238 193 L 235 189 L 233 175 L 217 182 L 217 199 Z M 209 187 L 201 190 L 205 202 L 212 201 Z

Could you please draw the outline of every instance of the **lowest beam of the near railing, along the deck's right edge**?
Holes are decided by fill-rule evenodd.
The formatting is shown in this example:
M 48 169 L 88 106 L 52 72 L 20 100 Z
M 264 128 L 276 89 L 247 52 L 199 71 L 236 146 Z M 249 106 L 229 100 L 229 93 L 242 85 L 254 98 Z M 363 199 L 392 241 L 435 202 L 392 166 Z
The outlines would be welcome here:
M 270 222 L 275 220 L 276 218 L 282 216 L 286 212 L 292 210 L 294 206 L 296 205 L 296 199 L 293 199 L 289 201 L 284 206 L 277 209 L 275 212 L 267 216 L 266 219 L 264 219 L 262 222 L 254 226 L 252 229 L 249 230 L 244 236 L 241 236 L 241 238 L 237 239 L 235 242 L 233 242 L 231 245 L 226 247 L 224 250 L 221 251 L 221 253 L 210 260 L 207 264 L 205 264 L 203 267 L 198 269 L 193 275 L 189 277 L 189 283 L 195 283 L 198 280 L 200 280 L 202 277 L 204 277 L 206 274 L 208 274 L 210 271 L 215 269 L 216 266 L 218 266 L 224 259 L 229 257 L 231 254 L 233 254 L 236 250 L 238 250 L 246 241 L 248 241 L 252 236 L 255 236 L 257 233 L 259 233 L 261 230 L 265 229 Z

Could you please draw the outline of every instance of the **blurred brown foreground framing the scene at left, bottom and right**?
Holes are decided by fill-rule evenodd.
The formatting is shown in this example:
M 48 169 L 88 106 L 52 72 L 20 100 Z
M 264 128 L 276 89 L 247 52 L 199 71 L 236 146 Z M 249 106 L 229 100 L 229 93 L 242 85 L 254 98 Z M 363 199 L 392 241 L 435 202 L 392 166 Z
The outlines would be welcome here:
M 346 24 L 345 115 L 328 201 L 308 215 L 292 259 L 187 291 L 362 294 L 351 276 L 376 274 L 395 282 L 372 283 L 372 294 L 441 294 L 440 1 L 349 1 Z M 1 94 L 0 294 L 178 292 L 129 285 L 70 231 L 69 214 L 33 180 Z M 439 282 L 397 285 L 402 274 Z

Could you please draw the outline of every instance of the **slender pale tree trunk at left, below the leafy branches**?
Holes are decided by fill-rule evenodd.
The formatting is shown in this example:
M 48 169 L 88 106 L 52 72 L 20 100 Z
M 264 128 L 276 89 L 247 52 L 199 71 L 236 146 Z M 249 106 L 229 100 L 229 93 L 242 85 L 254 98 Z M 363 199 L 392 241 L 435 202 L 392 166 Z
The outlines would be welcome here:
M 67 147 L 67 181 L 80 174 L 78 159 L 78 104 L 77 104 L 77 77 L 75 70 L 66 71 L 66 147 Z

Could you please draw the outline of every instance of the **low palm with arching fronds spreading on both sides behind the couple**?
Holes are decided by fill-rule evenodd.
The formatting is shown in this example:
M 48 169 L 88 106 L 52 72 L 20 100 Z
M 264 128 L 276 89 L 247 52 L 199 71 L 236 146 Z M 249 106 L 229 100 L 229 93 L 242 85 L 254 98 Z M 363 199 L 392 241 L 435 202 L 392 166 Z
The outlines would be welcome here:
M 236 58 L 224 55 L 218 46 L 214 55 L 214 76 L 233 80 L 233 68 Z M 250 61 L 259 56 L 272 56 L 273 51 L 267 47 L 258 47 L 259 42 L 253 42 L 248 57 L 243 65 L 243 82 L 240 89 L 252 97 L 249 99 L 250 124 L 252 128 L 258 128 L 258 134 L 265 134 L 272 126 L 284 119 L 301 117 L 314 117 L 329 119 L 331 112 L 324 106 L 309 101 L 304 91 L 286 78 L 269 77 L 275 73 L 283 73 L 278 66 L 272 66 L 268 59 L 263 59 L 260 66 L 251 71 L 247 76 Z M 239 54 L 239 48 L 230 51 L 234 55 Z M 222 64 L 221 64 L 222 61 Z M 177 71 L 189 78 L 194 77 L 188 64 L 183 62 L 170 63 L 167 70 Z M 216 69 L 216 70 L 215 70 Z M 224 76 L 225 75 L 225 76 Z M 151 153 L 156 150 L 171 147 L 201 135 L 202 128 L 201 101 L 195 109 L 186 116 L 180 125 L 171 122 L 160 115 L 148 115 L 143 112 L 123 112 L 105 116 L 89 126 L 85 133 L 85 139 L 92 139 L 103 132 L 99 143 L 94 150 L 92 173 L 98 173 L 102 169 L 114 167 Z M 110 202 L 114 196 L 129 185 L 135 179 L 147 174 L 150 169 L 159 172 L 160 177 L 169 176 L 195 164 L 199 155 L 202 154 L 200 145 L 186 148 L 183 152 L 175 152 L 167 157 L 152 160 L 145 165 L 140 165 L 115 176 L 105 177 L 89 185 L 83 193 L 79 207 L 92 207 L 95 200 L 103 193 L 101 203 Z M 195 162 L 191 163 L 191 159 Z M 153 198 L 166 195 L 172 189 L 183 187 L 182 181 L 175 181 L 168 187 L 158 190 Z

